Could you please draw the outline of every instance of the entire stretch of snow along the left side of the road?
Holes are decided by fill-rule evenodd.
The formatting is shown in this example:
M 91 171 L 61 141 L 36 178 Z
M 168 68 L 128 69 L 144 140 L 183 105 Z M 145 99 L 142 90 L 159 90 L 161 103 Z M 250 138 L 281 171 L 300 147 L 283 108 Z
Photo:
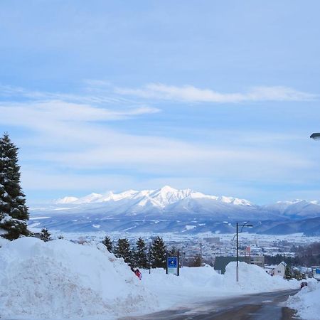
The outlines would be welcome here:
M 183 267 L 179 277 L 145 270 L 140 281 L 102 244 L 20 238 L 0 245 L 1 319 L 117 319 L 201 299 L 299 287 L 244 262 L 238 284 L 235 263 L 224 275 L 212 267 Z

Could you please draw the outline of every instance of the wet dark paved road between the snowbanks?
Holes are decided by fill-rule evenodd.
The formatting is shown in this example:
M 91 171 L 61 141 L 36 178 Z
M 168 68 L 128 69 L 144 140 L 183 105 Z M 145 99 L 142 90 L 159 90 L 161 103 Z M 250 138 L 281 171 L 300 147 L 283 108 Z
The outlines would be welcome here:
M 127 317 L 123 320 L 289 320 L 294 311 L 282 306 L 298 290 L 248 294 L 242 297 L 198 302 L 188 307 Z

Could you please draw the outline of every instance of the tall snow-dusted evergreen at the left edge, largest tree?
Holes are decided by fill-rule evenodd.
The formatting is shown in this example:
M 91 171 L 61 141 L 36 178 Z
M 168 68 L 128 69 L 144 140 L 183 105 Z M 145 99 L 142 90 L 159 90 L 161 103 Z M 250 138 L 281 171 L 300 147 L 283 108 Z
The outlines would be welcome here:
M 30 235 L 27 229 L 28 207 L 20 186 L 18 148 L 9 135 L 0 138 L 0 229 L 4 238 L 14 240 Z

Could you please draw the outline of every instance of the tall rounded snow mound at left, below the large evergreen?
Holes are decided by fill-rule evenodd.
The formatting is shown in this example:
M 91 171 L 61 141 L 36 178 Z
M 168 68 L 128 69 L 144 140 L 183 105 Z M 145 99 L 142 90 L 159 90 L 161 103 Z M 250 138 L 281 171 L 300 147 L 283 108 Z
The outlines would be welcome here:
M 146 291 L 100 244 L 21 238 L 0 248 L 0 318 L 107 319 L 146 309 Z

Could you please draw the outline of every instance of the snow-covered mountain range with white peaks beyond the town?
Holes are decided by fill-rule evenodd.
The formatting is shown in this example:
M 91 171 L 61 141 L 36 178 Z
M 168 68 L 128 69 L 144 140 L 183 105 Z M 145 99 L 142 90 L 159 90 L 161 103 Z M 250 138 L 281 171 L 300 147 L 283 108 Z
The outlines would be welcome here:
M 235 221 L 250 220 L 259 221 L 256 232 L 272 229 L 282 233 L 285 225 L 276 227 L 289 220 L 296 223 L 292 225 L 294 232 L 305 232 L 299 230 L 299 221 L 319 218 L 320 224 L 320 205 L 318 201 L 295 200 L 257 206 L 245 199 L 164 186 L 157 190 L 91 193 L 82 198 L 68 196 L 50 206 L 33 208 L 31 218 L 33 225 L 64 231 L 233 232 Z

